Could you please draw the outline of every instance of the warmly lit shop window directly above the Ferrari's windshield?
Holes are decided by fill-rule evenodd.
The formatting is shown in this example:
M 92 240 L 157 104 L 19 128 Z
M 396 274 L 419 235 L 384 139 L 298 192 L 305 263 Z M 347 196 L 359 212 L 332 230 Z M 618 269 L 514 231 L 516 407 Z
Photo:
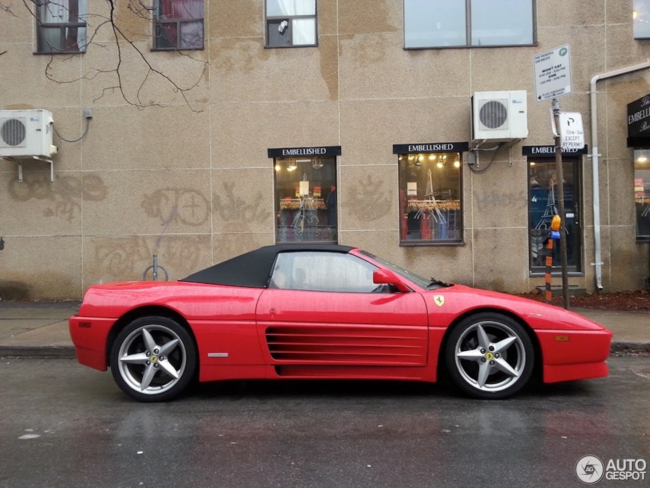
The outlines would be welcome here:
M 400 154 L 400 244 L 463 242 L 460 152 Z

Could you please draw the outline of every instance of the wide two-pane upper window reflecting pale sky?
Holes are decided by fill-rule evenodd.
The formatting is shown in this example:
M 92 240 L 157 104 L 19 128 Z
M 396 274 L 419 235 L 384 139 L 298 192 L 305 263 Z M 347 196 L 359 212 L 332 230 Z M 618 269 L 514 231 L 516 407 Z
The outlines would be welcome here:
M 404 0 L 404 47 L 530 46 L 534 0 Z

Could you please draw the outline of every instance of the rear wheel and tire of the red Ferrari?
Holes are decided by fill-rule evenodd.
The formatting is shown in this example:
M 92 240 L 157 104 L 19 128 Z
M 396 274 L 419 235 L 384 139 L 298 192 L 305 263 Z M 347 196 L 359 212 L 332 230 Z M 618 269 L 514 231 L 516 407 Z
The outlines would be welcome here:
M 110 349 L 110 372 L 115 382 L 139 401 L 171 400 L 187 388 L 195 369 L 194 340 L 181 325 L 166 317 L 135 319 L 118 334 Z

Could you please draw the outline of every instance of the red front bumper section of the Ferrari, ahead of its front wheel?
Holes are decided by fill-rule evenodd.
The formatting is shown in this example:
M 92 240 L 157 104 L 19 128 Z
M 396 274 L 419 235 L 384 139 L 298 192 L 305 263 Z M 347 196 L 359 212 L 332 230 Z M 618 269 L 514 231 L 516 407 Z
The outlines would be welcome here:
M 598 378 L 608 375 L 612 332 L 537 331 L 544 383 Z

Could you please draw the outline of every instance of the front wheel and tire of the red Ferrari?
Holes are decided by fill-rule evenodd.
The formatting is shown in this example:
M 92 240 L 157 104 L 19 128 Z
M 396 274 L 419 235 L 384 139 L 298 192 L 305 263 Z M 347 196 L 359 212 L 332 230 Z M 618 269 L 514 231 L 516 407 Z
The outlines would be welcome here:
M 517 393 L 532 374 L 535 351 L 517 321 L 497 313 L 463 319 L 445 345 L 447 371 L 465 394 L 500 400 Z

